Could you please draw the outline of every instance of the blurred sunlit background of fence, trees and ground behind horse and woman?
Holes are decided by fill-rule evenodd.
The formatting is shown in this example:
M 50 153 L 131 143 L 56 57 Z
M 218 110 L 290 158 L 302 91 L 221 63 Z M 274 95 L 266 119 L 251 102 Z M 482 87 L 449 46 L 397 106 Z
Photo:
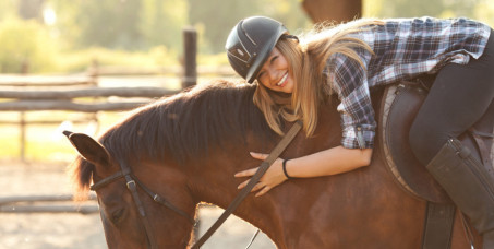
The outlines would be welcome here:
M 294 34 L 362 16 L 467 16 L 494 26 L 494 1 L 1 0 L 0 248 L 106 248 L 96 203 L 81 215 L 67 201 L 75 152 L 61 131 L 97 135 L 149 100 L 237 79 L 225 40 L 251 15 Z M 219 212 L 204 209 L 203 224 Z M 244 247 L 254 230 L 233 218 L 204 248 Z M 252 248 L 274 246 L 262 236 Z

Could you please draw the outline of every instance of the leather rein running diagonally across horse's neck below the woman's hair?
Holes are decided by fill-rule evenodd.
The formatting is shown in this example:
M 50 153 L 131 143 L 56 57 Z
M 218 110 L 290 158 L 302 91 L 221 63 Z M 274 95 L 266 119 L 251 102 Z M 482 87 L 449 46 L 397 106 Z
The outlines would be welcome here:
M 288 133 L 281 139 L 281 141 L 275 146 L 272 153 L 261 164 L 257 171 L 252 176 L 249 183 L 242 191 L 237 195 L 237 198 L 230 203 L 230 205 L 225 210 L 225 212 L 219 216 L 219 218 L 209 227 L 209 229 L 201 237 L 197 242 L 192 246 L 192 249 L 198 249 L 201 246 L 209 239 L 210 236 L 221 226 L 221 224 L 233 213 L 233 211 L 240 205 L 240 203 L 246 198 L 255 185 L 257 185 L 261 177 L 267 171 L 269 166 L 279 157 L 279 155 L 285 151 L 285 149 L 290 144 L 293 138 L 299 133 L 302 128 L 301 121 L 293 123 Z

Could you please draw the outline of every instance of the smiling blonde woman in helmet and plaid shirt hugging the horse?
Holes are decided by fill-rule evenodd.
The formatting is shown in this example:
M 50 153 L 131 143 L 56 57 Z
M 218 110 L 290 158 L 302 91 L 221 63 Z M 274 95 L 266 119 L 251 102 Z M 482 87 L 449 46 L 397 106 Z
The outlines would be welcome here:
M 466 147 L 456 139 L 482 117 L 494 98 L 491 33 L 489 26 L 467 19 L 360 20 L 315 29 L 299 42 L 273 19 L 240 21 L 227 39 L 228 59 L 249 83 L 258 84 L 254 103 L 273 130 L 282 133 L 281 118 L 300 119 L 310 137 L 320 103 L 333 93 L 341 100 L 337 106 L 341 145 L 277 159 L 254 187 L 256 197 L 290 178 L 330 176 L 369 165 L 376 127 L 370 88 L 436 73 L 411 128 L 411 146 L 483 234 L 484 248 L 494 248 L 494 180 L 481 161 L 463 153 Z M 277 100 L 279 93 L 290 94 L 291 103 Z M 255 170 L 236 177 L 250 177 Z

